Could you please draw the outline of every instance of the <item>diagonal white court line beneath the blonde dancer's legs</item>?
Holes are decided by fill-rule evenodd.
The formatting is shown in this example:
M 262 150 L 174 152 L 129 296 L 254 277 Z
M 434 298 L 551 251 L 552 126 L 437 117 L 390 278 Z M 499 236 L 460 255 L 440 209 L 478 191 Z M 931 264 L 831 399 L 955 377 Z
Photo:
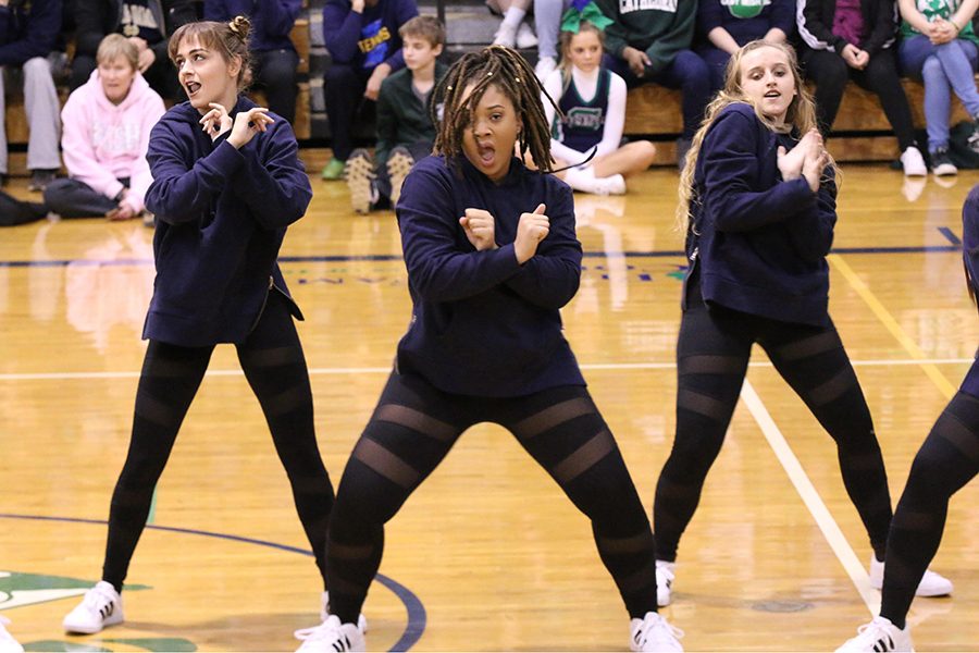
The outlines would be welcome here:
M 765 404 L 761 403 L 754 386 L 747 379 L 744 380 L 744 386 L 741 389 L 741 398 L 748 407 L 748 410 L 751 410 L 755 421 L 758 422 L 761 433 L 765 434 L 765 439 L 774 452 L 776 457 L 782 464 L 785 473 L 789 475 L 789 480 L 795 485 L 795 491 L 798 492 L 803 503 L 809 508 L 809 513 L 819 526 L 819 530 L 822 531 L 822 535 L 829 542 L 833 553 L 837 554 L 837 558 L 843 565 L 843 569 L 850 576 L 853 584 L 856 586 L 864 603 L 870 609 L 871 616 L 876 617 L 877 613 L 880 612 L 880 594 L 870 587 L 870 577 L 867 575 L 863 563 L 857 558 L 850 542 L 846 541 L 846 537 L 840 530 L 829 508 L 822 503 L 819 492 L 816 491 L 809 477 L 806 476 L 806 471 L 792 452 L 792 447 L 789 446 L 789 442 L 785 441 L 785 436 L 782 435 L 779 427 L 771 419 L 771 415 L 769 415 Z

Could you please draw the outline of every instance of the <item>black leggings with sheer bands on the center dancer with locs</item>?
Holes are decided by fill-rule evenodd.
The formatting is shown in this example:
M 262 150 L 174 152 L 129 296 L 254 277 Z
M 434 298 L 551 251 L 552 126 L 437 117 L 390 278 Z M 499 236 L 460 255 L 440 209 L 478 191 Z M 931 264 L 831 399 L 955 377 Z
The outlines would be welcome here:
M 445 393 L 417 375 L 397 372 L 354 447 L 330 518 L 331 612 L 343 623 L 357 623 L 381 564 L 385 522 L 462 432 L 484 421 L 513 433 L 591 519 L 598 554 L 629 614 L 643 617 L 655 612 L 649 520 L 616 441 L 584 386 L 522 397 L 474 397 Z

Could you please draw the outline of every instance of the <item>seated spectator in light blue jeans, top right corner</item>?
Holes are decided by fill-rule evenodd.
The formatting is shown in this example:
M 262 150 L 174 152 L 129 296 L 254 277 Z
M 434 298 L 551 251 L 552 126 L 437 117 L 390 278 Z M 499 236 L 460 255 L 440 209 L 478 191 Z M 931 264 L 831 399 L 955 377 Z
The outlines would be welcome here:
M 956 174 L 949 156 L 949 114 L 952 91 L 975 121 L 979 121 L 979 91 L 976 90 L 976 61 L 979 38 L 972 15 L 979 0 L 900 0 L 904 21 L 897 59 L 901 71 L 925 84 L 925 124 L 931 170 L 937 175 Z M 979 152 L 979 132 L 969 147 Z

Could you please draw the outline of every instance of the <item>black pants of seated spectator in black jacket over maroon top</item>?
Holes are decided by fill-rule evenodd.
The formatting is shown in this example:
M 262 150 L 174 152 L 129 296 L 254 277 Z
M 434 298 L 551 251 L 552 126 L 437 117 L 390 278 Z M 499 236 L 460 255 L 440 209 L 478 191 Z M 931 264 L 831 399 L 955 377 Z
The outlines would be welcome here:
M 892 48 L 876 52 L 862 71 L 850 67 L 842 57 L 829 50 L 803 48 L 801 54 L 806 77 L 816 83 L 816 120 L 823 136 L 829 136 L 832 132 L 846 82 L 853 79 L 880 99 L 880 106 L 894 130 L 901 151 L 915 145 L 910 104 L 907 103 L 907 96 L 901 85 Z

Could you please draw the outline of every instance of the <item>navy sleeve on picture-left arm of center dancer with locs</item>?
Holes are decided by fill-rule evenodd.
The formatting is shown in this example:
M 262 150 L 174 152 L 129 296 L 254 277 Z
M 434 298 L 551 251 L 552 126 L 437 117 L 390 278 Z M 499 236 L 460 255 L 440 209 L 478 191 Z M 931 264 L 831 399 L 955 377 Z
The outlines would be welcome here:
M 441 162 L 438 163 L 441 165 Z M 424 301 L 455 301 L 493 288 L 520 270 L 513 245 L 466 251 L 446 169 L 437 174 L 416 167 L 398 200 L 398 227 L 412 287 Z

